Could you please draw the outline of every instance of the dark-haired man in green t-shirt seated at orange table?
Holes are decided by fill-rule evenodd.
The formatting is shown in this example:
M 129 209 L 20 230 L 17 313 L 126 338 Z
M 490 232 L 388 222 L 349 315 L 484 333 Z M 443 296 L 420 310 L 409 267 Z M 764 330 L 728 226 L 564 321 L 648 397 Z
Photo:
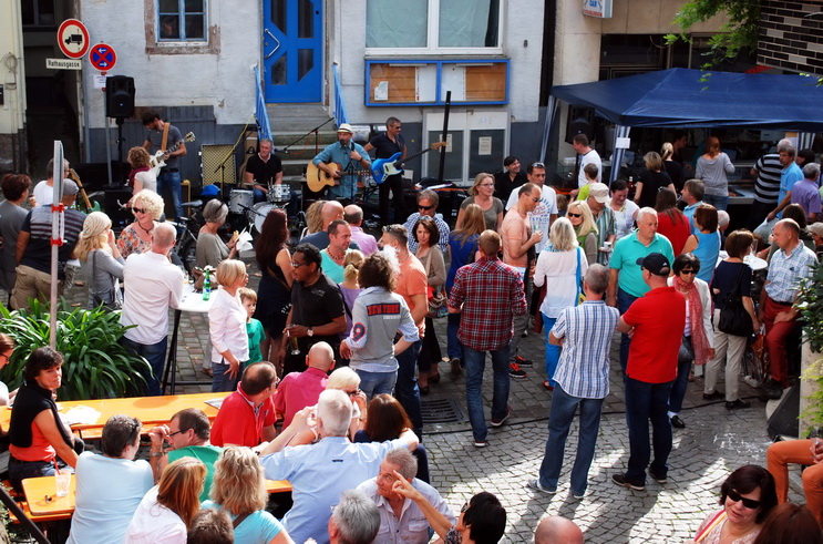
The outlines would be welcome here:
M 206 483 L 200 493 L 200 501 L 208 499 L 214 479 L 214 464 L 223 451 L 223 448 L 209 443 L 210 437 L 212 422 L 198 408 L 181 410 L 172 415 L 167 425 L 158 425 L 148 431 L 148 438 L 152 440 L 148 462 L 152 465 L 154 483 L 160 481 L 160 475 L 168 463 L 182 458 L 195 458 L 206 465 Z M 165 449 L 164 441 L 168 444 Z

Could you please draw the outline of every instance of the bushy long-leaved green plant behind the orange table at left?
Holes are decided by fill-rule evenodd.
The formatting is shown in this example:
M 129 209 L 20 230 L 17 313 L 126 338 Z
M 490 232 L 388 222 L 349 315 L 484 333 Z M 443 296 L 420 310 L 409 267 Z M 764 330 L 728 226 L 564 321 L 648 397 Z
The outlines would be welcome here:
M 63 353 L 62 400 L 107 399 L 145 393 L 142 371 L 148 362 L 117 340 L 127 327 L 120 312 L 101 308 L 70 310 L 64 299 L 58 309 L 56 350 Z M 30 310 L 9 311 L 0 306 L 0 331 L 14 338 L 14 355 L 0 371 L 9 389 L 23 381 L 23 367 L 37 348 L 49 346 L 49 306 L 32 301 Z

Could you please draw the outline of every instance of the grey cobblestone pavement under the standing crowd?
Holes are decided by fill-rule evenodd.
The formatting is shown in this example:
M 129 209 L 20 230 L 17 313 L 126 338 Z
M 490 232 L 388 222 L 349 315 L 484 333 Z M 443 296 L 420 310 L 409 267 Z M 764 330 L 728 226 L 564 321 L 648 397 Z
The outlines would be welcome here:
M 255 288 L 259 275 L 254 264 L 249 273 L 249 287 Z M 79 304 L 80 291 L 84 297 L 82 288 L 72 288 L 69 299 Z M 445 353 L 444 320 L 438 321 L 435 329 Z M 206 379 L 199 368 L 210 350 L 207 317 L 184 314 L 179 335 L 178 379 Z M 584 530 L 587 542 L 685 542 L 693 538 L 708 513 L 719 509 L 720 484 L 731 471 L 747 463 L 765 465 L 769 439 L 764 404 L 754 398 L 755 391 L 741 382 L 741 396 L 752 401 L 752 408 L 728 411 L 722 401 L 707 403 L 702 400 L 702 380 L 697 378 L 689 384 L 681 412 L 687 427 L 675 429 L 668 483 L 659 485 L 648 479 L 644 492 L 615 485 L 611 474 L 625 471 L 628 462 L 624 388 L 615 342 L 610 393 L 604 403 L 586 496 L 575 500 L 568 490 L 568 473 L 576 451 L 576 423 L 566 443 L 557 494 L 532 491 L 526 483 L 536 478 L 543 460 L 552 393 L 541 386 L 545 379 L 543 336 L 529 332 L 521 346 L 525 355 L 534 359 L 535 367 L 526 369 L 526 379 L 512 380 L 510 404 L 513 415 L 505 425 L 490 431 L 487 448 L 476 449 L 472 443 L 465 417 L 463 379 L 452 377 L 449 365 L 441 365 L 441 382 L 432 384 L 431 394 L 423 397 L 423 402 L 451 399 L 461 411 L 456 422 L 425 427 L 424 442 L 430 452 L 432 484 L 455 512 L 480 491 L 497 495 L 507 511 L 506 542 L 531 542 L 534 527 L 547 514 L 573 519 Z M 487 414 L 491 410 L 491 379 L 490 362 L 483 388 Z M 207 386 L 187 386 L 178 388 L 177 392 L 208 390 Z M 798 478 L 794 478 L 790 500 L 802 503 L 798 490 Z

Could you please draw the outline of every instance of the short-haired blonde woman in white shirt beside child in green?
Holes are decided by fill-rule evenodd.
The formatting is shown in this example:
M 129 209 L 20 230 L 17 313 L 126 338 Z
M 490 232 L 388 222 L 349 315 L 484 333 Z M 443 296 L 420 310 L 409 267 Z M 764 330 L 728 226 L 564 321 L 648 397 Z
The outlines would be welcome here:
M 246 265 L 241 260 L 226 259 L 217 266 L 217 281 L 208 309 L 208 336 L 212 339 L 212 391 L 235 391 L 237 377 L 248 361 L 248 314 L 240 301 L 239 290 L 248 284 Z

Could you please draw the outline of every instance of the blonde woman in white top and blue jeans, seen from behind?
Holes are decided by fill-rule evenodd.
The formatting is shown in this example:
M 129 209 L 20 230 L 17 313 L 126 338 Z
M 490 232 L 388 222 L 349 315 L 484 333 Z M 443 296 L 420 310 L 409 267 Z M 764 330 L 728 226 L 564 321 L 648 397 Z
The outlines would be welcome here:
M 548 232 L 548 244 L 537 257 L 534 269 L 534 286 L 546 286 L 546 296 L 541 305 L 543 330 L 546 333 L 546 381 L 543 387 L 549 391 L 555 386 L 553 378 L 560 360 L 560 347 L 548 342 L 548 333 L 565 308 L 577 306 L 580 278 L 586 275 L 587 269 L 588 261 L 579 247 L 572 223 L 565 217 L 558 217 Z

